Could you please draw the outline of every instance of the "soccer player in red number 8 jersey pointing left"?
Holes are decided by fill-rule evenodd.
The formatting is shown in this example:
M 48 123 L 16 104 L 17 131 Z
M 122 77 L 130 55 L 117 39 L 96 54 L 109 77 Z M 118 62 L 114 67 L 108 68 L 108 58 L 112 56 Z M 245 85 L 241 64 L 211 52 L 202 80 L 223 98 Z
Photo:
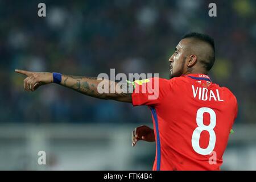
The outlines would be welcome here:
M 138 140 L 156 141 L 153 170 L 220 170 L 237 116 L 237 100 L 229 89 L 210 80 L 208 72 L 214 60 L 212 38 L 196 32 L 187 34 L 169 59 L 170 80 L 154 77 L 134 81 L 132 94 L 123 92 L 130 87 L 99 93 L 97 88 L 102 81 L 94 77 L 15 71 L 27 76 L 27 91 L 56 82 L 88 96 L 147 105 L 154 129 L 138 127 L 133 131 L 132 142 L 134 146 Z M 106 79 L 103 82 L 109 87 L 117 85 Z

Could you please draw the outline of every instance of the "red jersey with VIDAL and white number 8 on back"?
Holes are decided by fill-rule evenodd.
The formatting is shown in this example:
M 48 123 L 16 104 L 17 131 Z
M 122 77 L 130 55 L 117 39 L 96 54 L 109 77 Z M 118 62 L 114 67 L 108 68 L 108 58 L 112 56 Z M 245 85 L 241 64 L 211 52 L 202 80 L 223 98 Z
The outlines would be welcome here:
M 133 105 L 151 109 L 156 141 L 153 170 L 220 170 L 237 100 L 207 75 L 135 81 Z

